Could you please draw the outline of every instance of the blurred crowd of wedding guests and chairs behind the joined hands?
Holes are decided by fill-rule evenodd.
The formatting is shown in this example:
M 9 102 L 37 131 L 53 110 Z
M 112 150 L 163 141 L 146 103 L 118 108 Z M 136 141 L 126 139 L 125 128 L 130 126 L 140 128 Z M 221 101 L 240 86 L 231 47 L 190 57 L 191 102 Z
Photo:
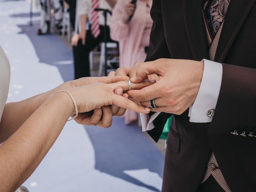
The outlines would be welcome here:
M 40 0 L 37 4 L 41 9 L 37 34 L 50 34 L 52 21 L 59 34 L 67 36 L 75 79 L 106 76 L 118 67 L 130 68 L 146 59 L 152 0 Z M 94 66 L 98 74 L 92 71 Z M 127 110 L 125 124 L 140 124 L 138 117 Z

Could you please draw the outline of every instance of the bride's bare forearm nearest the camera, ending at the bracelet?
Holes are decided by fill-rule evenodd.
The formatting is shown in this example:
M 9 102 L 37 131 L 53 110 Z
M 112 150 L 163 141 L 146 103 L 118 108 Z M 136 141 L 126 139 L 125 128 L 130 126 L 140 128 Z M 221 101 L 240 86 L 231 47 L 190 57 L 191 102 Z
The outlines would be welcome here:
M 47 99 L 0 146 L 0 191 L 15 191 L 44 158 L 74 111 L 66 93 Z

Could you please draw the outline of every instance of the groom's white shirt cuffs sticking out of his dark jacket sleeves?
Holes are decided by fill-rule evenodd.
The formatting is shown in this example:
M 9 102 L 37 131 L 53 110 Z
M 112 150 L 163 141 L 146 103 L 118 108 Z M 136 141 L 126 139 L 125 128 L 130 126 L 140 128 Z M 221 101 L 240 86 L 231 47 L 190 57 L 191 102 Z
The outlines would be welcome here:
M 208 110 L 215 110 L 222 81 L 222 64 L 204 59 L 204 72 L 196 100 L 189 108 L 190 122 L 212 122 L 212 117 L 207 116 Z M 150 118 L 140 114 L 142 131 L 154 128 L 153 120 L 160 114 L 154 113 Z

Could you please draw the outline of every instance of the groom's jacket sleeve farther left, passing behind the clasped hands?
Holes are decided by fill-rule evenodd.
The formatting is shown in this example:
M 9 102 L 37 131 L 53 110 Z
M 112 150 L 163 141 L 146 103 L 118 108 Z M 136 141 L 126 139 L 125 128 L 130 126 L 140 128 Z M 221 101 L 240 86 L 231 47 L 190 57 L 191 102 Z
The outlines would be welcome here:
M 153 61 L 159 58 L 171 58 L 164 34 L 161 0 L 153 0 L 150 14 L 153 25 L 146 61 Z M 147 131 L 155 142 L 159 140 L 164 125 L 171 115 L 172 114 L 160 113 L 153 121 L 155 128 Z

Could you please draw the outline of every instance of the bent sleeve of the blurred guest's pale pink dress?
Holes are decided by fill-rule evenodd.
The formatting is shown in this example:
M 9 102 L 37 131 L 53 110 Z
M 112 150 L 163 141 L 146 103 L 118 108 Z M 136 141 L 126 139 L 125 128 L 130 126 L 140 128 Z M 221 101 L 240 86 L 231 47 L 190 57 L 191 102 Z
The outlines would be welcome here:
M 112 40 L 120 41 L 129 36 L 129 25 L 122 22 L 122 13 L 126 3 L 125 0 L 118 0 L 113 9 L 110 22 L 110 37 Z

